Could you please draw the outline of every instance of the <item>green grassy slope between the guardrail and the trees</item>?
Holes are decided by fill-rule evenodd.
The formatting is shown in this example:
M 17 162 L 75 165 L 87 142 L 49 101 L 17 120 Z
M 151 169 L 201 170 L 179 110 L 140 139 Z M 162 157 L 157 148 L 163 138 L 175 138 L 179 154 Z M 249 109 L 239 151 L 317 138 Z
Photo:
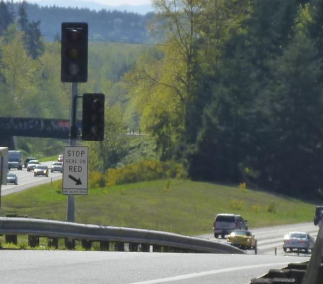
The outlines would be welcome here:
M 61 182 L 3 196 L 0 215 L 66 220 L 67 196 Z M 89 189 L 75 197 L 78 223 L 140 227 L 186 235 L 212 233 L 218 213 L 237 213 L 249 227 L 311 222 L 316 204 L 190 180 L 157 180 Z

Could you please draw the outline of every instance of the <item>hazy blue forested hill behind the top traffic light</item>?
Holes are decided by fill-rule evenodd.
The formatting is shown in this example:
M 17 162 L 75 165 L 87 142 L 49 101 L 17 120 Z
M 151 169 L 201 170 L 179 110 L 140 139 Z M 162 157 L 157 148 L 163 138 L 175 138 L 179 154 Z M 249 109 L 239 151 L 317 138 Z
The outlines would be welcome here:
M 51 0 L 44 1 L 50 2 Z M 55 2 L 59 3 L 60 1 Z M 16 14 L 19 5 L 20 3 L 13 3 Z M 101 9 L 96 11 L 90 8 L 59 7 L 58 5 L 40 6 L 32 3 L 27 3 L 26 7 L 30 21 L 40 20 L 41 33 L 46 41 L 53 41 L 55 36 L 60 36 L 62 22 L 87 22 L 90 41 L 130 43 L 152 41 L 147 33 L 147 24 L 154 15 L 152 12 L 143 15 L 119 10 Z

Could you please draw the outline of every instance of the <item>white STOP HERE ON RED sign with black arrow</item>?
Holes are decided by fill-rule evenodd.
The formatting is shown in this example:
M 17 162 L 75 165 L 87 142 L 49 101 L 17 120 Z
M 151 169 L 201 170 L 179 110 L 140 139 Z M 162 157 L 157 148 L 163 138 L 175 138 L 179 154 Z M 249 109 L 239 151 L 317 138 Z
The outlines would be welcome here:
M 63 161 L 63 194 L 86 195 L 88 147 L 65 146 Z

